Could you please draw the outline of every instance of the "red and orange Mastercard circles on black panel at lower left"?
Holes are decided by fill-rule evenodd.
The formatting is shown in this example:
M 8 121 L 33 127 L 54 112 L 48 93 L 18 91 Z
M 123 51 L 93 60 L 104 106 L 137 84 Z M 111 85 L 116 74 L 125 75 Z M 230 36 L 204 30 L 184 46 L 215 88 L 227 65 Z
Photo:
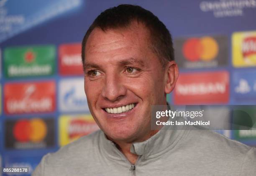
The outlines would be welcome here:
M 39 143 L 46 137 L 47 126 L 44 120 L 34 118 L 31 120 L 18 120 L 13 128 L 13 135 L 19 142 Z

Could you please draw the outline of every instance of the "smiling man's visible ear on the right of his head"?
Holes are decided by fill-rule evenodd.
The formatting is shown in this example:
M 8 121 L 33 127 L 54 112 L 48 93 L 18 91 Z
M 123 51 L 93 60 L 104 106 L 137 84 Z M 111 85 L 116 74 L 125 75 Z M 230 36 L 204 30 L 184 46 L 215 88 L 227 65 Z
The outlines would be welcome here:
M 169 61 L 165 67 L 165 93 L 169 94 L 175 87 L 179 76 L 179 69 L 175 61 Z

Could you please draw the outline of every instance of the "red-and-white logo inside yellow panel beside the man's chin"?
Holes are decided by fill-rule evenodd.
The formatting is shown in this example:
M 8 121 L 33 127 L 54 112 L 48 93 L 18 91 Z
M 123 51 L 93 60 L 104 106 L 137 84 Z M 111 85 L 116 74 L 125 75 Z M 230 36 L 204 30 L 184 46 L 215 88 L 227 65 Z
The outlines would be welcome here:
M 93 131 L 98 130 L 99 127 L 95 121 L 86 121 L 83 119 L 72 120 L 69 124 L 68 134 L 69 138 L 78 138 L 83 135 L 88 135 Z

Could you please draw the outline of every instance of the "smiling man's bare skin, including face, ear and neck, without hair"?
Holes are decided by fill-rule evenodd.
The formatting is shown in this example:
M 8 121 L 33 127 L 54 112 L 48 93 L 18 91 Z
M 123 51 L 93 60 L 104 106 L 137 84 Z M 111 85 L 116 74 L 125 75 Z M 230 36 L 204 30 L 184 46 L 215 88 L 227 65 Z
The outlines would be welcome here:
M 166 105 L 178 69 L 172 55 L 161 63 L 164 56 L 154 52 L 146 24 L 130 23 L 95 28 L 84 40 L 84 90 L 100 129 L 135 163 L 138 156 L 130 152 L 131 145 L 157 132 L 151 130 L 151 106 Z

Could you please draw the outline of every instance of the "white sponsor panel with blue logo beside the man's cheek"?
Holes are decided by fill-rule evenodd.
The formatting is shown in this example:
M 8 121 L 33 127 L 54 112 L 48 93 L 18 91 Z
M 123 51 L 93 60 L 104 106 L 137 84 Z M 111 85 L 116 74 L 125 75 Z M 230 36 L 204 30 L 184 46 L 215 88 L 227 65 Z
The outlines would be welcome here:
M 59 108 L 63 112 L 89 112 L 83 78 L 61 80 L 59 84 Z

